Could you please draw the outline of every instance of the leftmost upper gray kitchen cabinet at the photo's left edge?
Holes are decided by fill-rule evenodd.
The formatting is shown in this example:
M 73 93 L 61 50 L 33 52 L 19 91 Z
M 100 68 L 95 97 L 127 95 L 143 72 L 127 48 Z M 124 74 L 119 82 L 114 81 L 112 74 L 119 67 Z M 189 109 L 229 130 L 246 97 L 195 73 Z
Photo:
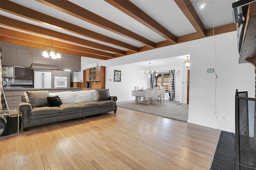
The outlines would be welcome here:
M 2 47 L 2 65 L 16 66 L 17 65 L 17 49 L 14 47 Z

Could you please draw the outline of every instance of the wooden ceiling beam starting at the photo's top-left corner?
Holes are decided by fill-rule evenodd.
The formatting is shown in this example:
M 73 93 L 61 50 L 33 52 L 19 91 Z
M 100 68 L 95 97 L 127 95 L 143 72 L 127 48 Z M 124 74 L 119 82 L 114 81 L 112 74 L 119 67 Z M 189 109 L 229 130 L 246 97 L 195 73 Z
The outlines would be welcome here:
M 0 9 L 12 13 L 14 15 L 27 18 L 29 20 L 33 20 L 39 23 L 47 24 L 47 25 L 54 25 L 55 27 L 59 27 L 60 29 L 63 29 L 68 32 L 76 33 L 78 35 L 82 35 L 85 37 L 89 37 L 92 39 L 96 39 L 98 41 L 102 41 L 104 43 L 109 43 L 112 45 L 116 45 L 118 47 L 122 47 L 128 50 L 137 51 L 138 47 L 134 45 L 130 45 L 128 43 L 119 41 L 117 39 L 108 37 L 106 35 L 102 35 L 100 33 L 96 33 L 94 31 L 91 31 L 89 29 L 85 29 L 83 27 L 79 27 L 77 25 L 74 25 L 72 23 L 68 23 L 66 21 L 59 20 L 57 18 L 54 18 L 52 16 L 48 16 L 46 14 L 43 14 L 41 12 L 32 10 L 30 8 L 27 8 L 25 6 L 21 6 L 19 4 L 16 4 L 14 2 L 4 0 L 0 3 Z

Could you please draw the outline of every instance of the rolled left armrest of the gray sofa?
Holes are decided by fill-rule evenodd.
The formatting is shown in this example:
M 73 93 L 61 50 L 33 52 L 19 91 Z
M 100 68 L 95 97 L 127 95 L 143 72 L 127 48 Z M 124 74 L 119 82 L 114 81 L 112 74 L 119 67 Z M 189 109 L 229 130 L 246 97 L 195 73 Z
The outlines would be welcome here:
M 27 102 L 20 102 L 19 111 L 22 112 L 22 127 L 29 127 L 32 106 Z

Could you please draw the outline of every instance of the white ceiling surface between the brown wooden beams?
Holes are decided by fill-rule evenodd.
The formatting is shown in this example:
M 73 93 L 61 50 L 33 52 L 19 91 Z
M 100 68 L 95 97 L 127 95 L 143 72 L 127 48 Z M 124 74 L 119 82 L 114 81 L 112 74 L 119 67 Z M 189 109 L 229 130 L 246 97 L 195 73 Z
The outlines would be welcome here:
M 89 23 L 87 21 L 80 20 L 79 18 L 76 18 L 60 10 L 56 10 L 54 8 L 46 6 L 36 0 L 10 0 L 10 1 L 20 4 L 22 6 L 26 6 L 38 12 L 42 12 L 54 18 L 67 21 L 74 25 L 78 25 L 80 27 L 84 27 L 86 29 L 90 29 L 97 33 L 106 35 L 108 37 L 112 37 L 114 39 L 123 41 L 125 43 L 134 45 L 136 47 L 144 46 L 142 43 L 138 43 L 137 41 L 134 41 L 122 35 L 118 35 L 117 33 L 108 31 L 107 29 L 104 29 L 102 27 Z M 145 37 L 146 39 L 149 39 L 154 43 L 158 43 L 166 40 L 164 37 L 162 37 L 158 33 L 152 31 L 150 28 L 136 21 L 132 17 L 126 15 L 124 12 L 118 10 L 117 8 L 108 4 L 104 0 L 69 0 L 69 1 L 103 18 L 106 18 L 107 20 L 110 20 L 126 29 L 129 29 L 130 31 L 137 33 L 138 35 L 141 35 L 142 37 Z M 235 2 L 236 0 L 198 0 L 198 4 L 200 5 L 205 3 L 203 10 L 200 9 L 198 4 L 196 3 L 196 0 L 190 0 L 190 1 L 192 2 L 192 5 L 194 6 L 196 12 L 198 13 L 198 16 L 200 17 L 206 29 L 210 29 L 212 26 L 218 27 L 222 25 L 227 25 L 229 23 L 233 23 L 232 3 Z M 193 25 L 186 18 L 186 16 L 183 14 L 183 12 L 180 10 L 180 8 L 174 2 L 174 0 L 130 0 L 130 2 L 135 4 L 138 8 L 140 8 L 142 11 L 148 14 L 151 18 L 153 18 L 162 26 L 164 26 L 168 31 L 173 33 L 176 37 L 180 37 L 183 35 L 188 35 L 196 32 Z M 72 35 L 74 37 L 80 37 L 82 39 L 108 45 L 116 49 L 127 51 L 127 49 L 118 47 L 116 45 L 104 43 L 102 41 L 88 38 L 88 37 L 79 35 L 77 33 L 71 33 L 70 31 L 65 31 L 54 25 L 50 25 L 50 24 L 46 24 L 38 21 L 32 21 L 30 19 L 26 19 L 25 17 L 16 16 L 15 14 L 10 14 L 2 10 L 0 10 L 0 15 L 7 16 L 9 18 L 14 18 L 16 20 L 24 21 L 26 23 L 30 23 L 33 25 L 38 25 L 40 27 L 51 29 L 57 32 L 65 33 L 67 35 Z M 212 24 L 212 26 L 208 23 L 205 16 L 207 20 Z M 0 25 L 0 27 L 3 27 L 3 25 Z M 39 35 L 39 36 L 43 36 L 43 35 Z M 186 60 L 186 56 L 185 57 L 183 56 L 182 62 L 184 62 L 184 59 Z M 166 60 L 167 59 L 164 59 L 163 61 L 166 62 Z M 170 60 L 174 60 L 174 59 L 172 58 Z M 168 61 L 168 62 L 176 63 L 178 62 L 178 60 L 181 60 L 181 59 L 178 57 L 176 60 L 177 61 Z M 161 60 L 154 61 L 154 64 L 158 63 L 158 65 L 161 66 L 162 61 L 161 62 L 160 61 Z M 148 62 L 149 61 L 142 62 L 142 63 L 148 64 Z M 138 63 L 138 65 L 140 64 Z

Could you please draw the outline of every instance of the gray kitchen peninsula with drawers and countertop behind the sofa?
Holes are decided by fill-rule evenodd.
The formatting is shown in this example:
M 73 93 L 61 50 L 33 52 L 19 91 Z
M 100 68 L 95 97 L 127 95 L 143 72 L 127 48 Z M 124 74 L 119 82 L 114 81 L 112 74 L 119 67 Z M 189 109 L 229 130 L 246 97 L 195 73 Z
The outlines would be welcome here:
M 21 102 L 21 95 L 25 91 L 39 91 L 39 90 L 48 90 L 49 92 L 65 92 L 65 91 L 81 91 L 82 88 L 79 87 L 69 87 L 69 88 L 26 88 L 26 87 L 10 87 L 4 88 L 4 96 L 8 104 L 9 109 L 15 109 L 19 106 Z

